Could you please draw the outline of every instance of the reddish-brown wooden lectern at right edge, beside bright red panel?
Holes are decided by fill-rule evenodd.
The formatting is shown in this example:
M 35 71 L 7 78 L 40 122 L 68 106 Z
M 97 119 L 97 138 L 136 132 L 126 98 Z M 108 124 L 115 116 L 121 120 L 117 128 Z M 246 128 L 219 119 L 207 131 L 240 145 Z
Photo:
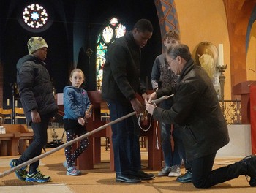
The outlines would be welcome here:
M 237 85 L 233 86 L 232 94 L 233 95 L 240 95 L 241 96 L 241 116 L 242 124 L 250 124 L 250 104 L 249 104 L 249 96 L 250 96 L 250 89 L 249 87 L 252 84 L 256 84 L 256 81 L 244 81 L 238 83 Z

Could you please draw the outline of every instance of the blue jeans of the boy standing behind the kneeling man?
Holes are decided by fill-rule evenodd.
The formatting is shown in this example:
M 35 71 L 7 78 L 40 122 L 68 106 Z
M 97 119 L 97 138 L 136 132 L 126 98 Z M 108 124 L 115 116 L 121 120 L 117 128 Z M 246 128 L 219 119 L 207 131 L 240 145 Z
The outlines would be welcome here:
M 172 106 L 172 99 L 167 99 L 161 102 L 160 107 L 162 109 L 170 109 Z M 162 152 L 164 154 L 165 166 L 171 167 L 173 165 L 181 165 L 181 156 L 179 153 L 178 145 L 182 143 L 181 133 L 175 132 L 176 126 L 173 128 L 173 141 L 174 147 L 172 150 L 171 145 L 171 125 L 161 122 L 161 144 Z M 178 129 L 178 128 L 177 128 Z M 176 135 L 174 135 L 174 132 Z

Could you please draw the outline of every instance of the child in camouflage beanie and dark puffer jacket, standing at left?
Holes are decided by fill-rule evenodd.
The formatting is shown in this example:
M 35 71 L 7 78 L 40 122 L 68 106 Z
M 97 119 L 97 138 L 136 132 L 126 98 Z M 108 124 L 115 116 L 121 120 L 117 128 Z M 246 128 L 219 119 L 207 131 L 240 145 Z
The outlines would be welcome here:
M 50 75 L 43 62 L 47 56 L 48 45 L 42 37 L 31 37 L 27 43 L 29 55 L 20 58 L 17 63 L 17 82 L 20 100 L 34 138 L 19 159 L 12 159 L 11 167 L 28 161 L 42 153 L 47 143 L 47 129 L 50 118 L 54 118 L 58 105 L 53 96 L 53 86 Z M 39 168 L 39 161 L 29 165 L 29 172 L 23 167 L 16 170 L 16 176 L 26 182 L 47 182 L 50 176 L 43 175 Z

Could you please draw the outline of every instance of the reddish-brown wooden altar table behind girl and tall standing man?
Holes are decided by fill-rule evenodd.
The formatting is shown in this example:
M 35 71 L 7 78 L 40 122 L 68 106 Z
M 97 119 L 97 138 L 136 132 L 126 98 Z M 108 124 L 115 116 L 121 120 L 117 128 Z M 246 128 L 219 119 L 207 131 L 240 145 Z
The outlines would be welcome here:
M 86 124 L 87 131 L 90 132 L 94 129 L 99 128 L 99 126 L 105 125 L 108 121 L 102 121 L 101 119 L 101 103 L 104 102 L 102 100 L 101 91 L 87 91 L 91 104 L 93 107 L 93 116 L 89 118 Z M 63 96 L 61 96 L 63 97 Z M 138 99 L 142 102 L 140 96 Z M 63 105 L 59 104 L 59 115 L 64 115 L 63 113 Z M 148 120 L 150 116 L 148 115 Z M 149 121 L 148 123 L 149 124 Z M 147 125 L 145 126 L 148 127 Z M 157 131 L 156 131 L 157 127 Z M 109 137 L 111 139 L 112 131 L 111 126 L 108 126 L 106 129 L 102 129 L 101 131 L 94 133 L 89 136 L 89 146 L 86 148 L 86 151 L 83 152 L 78 157 L 78 162 L 76 163 L 78 169 L 80 170 L 88 170 L 93 169 L 94 164 L 101 162 L 101 144 L 100 137 Z M 148 168 L 152 170 L 159 170 L 162 167 L 162 149 L 157 149 L 157 136 L 160 136 L 160 128 L 157 124 L 157 121 L 152 120 L 151 128 L 147 132 L 141 131 L 141 136 L 145 136 L 148 139 Z M 79 143 L 79 142 L 78 142 Z M 78 143 L 74 144 L 74 148 L 78 146 Z M 113 157 L 113 148 L 112 142 L 110 140 L 110 170 L 114 171 L 114 157 Z

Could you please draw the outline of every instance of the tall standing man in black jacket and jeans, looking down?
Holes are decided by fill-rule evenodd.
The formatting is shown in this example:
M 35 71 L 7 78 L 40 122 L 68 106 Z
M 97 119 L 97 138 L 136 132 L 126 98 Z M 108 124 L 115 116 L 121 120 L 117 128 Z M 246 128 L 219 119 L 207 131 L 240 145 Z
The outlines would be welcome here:
M 153 26 L 141 19 L 132 31 L 127 31 L 108 48 L 103 69 L 102 98 L 108 103 L 111 121 L 133 111 L 142 113 L 143 105 L 136 99 L 140 94 L 146 99 L 146 88 L 140 83 L 140 48 L 151 38 Z M 139 183 L 154 175 L 141 170 L 140 129 L 138 118 L 132 116 L 112 125 L 112 142 L 116 181 Z

